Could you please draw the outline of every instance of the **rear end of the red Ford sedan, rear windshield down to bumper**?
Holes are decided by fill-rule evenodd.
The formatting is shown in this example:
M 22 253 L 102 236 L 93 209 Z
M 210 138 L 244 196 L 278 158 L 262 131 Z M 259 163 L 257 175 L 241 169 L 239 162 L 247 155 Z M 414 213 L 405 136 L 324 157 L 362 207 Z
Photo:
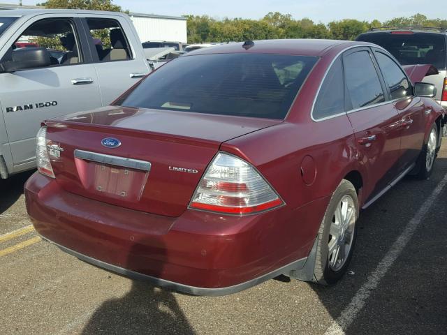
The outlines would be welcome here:
M 302 267 L 314 232 L 291 243 L 283 228 L 318 202 L 292 214 L 256 163 L 264 149 L 226 146 L 284 126 L 318 57 L 240 49 L 179 57 L 113 106 L 45 121 L 26 185 L 38 233 L 94 265 L 198 295 Z

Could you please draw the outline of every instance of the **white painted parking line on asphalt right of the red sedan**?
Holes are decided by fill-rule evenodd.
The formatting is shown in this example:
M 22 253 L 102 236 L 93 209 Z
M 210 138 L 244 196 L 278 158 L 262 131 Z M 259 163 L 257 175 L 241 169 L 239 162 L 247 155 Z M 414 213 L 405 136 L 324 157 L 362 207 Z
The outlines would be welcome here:
M 427 214 L 427 212 L 430 210 L 432 204 L 434 203 L 434 200 L 436 200 L 446 184 L 447 174 L 439 182 L 437 188 L 434 189 L 430 197 L 425 200 L 416 215 L 413 216 L 413 218 L 411 218 L 409 223 L 405 226 L 402 234 L 397 237 L 396 241 L 393 243 L 393 246 L 391 246 L 388 253 L 386 253 L 386 255 L 379 262 L 379 265 L 377 265 L 374 272 L 369 275 L 368 280 L 357 291 L 356 295 L 354 295 L 349 305 L 344 308 L 339 317 L 332 323 L 332 325 L 330 325 L 328 330 L 326 330 L 325 335 L 345 334 L 346 329 L 349 327 L 349 325 L 351 325 L 353 320 L 355 320 L 356 316 L 362 310 L 363 306 L 365 306 L 365 303 L 371 295 L 372 291 L 375 290 L 379 285 L 379 281 L 381 280 L 381 278 L 386 275 L 395 260 L 402 253 L 406 244 L 408 244 L 411 237 L 413 236 L 415 230 L 423 221 L 425 214 Z

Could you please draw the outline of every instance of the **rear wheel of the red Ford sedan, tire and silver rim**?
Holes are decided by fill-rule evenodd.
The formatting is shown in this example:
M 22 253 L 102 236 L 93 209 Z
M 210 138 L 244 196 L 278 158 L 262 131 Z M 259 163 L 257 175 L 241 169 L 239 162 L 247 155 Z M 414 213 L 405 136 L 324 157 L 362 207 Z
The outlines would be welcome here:
M 347 215 L 349 212 L 351 218 Z M 356 188 L 350 181 L 343 179 L 330 199 L 318 230 L 314 267 L 314 280 L 317 283 L 334 285 L 348 269 L 356 244 L 358 212 Z

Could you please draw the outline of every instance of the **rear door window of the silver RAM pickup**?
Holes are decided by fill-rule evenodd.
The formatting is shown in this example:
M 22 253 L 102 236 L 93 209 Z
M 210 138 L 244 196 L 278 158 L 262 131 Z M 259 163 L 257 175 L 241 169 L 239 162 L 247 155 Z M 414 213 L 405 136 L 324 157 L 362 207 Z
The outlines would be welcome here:
M 88 18 L 87 25 L 99 61 L 124 61 L 132 58 L 126 35 L 117 20 Z

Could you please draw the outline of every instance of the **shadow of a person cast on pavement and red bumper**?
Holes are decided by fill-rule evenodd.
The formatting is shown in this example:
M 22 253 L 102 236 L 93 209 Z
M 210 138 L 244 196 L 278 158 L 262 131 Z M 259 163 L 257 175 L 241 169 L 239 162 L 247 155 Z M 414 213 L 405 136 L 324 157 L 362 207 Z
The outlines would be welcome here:
M 163 274 L 163 262 L 166 259 L 161 239 L 151 242 L 144 239 L 133 244 L 127 253 L 124 267 L 135 269 L 144 264 L 135 261 L 135 255 L 142 255 L 150 264 L 151 275 Z M 103 302 L 91 316 L 82 334 L 195 334 L 172 292 L 156 288 L 147 281 L 134 280 L 131 290 L 122 298 Z

